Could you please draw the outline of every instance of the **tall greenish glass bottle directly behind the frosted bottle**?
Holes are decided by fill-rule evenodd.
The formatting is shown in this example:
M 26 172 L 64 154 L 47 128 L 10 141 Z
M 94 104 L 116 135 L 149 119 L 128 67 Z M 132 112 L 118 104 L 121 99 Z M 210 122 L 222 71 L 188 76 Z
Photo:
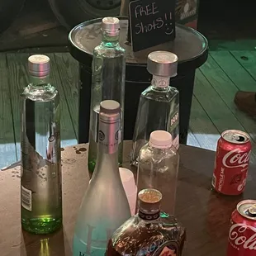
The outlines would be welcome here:
M 115 100 L 121 105 L 121 137 L 118 163 L 122 164 L 125 101 L 126 56 L 119 45 L 120 24 L 116 17 L 102 19 L 102 43 L 92 56 L 92 97 L 89 133 L 88 169 L 93 172 L 97 159 L 98 113 L 100 102 Z

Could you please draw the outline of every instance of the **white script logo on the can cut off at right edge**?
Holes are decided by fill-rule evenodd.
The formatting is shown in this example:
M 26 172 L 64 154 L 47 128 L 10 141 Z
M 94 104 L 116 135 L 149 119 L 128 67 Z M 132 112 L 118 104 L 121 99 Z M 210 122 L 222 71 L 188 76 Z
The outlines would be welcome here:
M 247 232 L 245 233 L 245 231 Z M 249 234 L 248 230 L 253 231 L 253 235 L 245 236 Z M 256 250 L 256 228 L 246 224 L 235 224 L 230 227 L 230 242 L 237 247 L 243 246 L 244 249 Z

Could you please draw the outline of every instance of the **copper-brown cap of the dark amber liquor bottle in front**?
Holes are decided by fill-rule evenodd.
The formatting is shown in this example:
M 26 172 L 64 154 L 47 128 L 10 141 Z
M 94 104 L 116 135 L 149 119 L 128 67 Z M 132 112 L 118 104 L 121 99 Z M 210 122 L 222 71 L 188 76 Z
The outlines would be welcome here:
M 156 189 L 146 188 L 139 192 L 140 211 L 160 211 L 162 194 Z

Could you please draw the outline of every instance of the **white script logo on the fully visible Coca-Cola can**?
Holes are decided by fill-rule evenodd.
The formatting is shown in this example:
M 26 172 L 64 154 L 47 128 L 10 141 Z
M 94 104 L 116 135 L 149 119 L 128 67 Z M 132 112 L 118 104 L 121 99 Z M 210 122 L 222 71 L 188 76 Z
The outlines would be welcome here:
M 249 156 L 251 151 L 248 153 L 240 153 L 239 151 L 239 149 L 233 149 L 225 154 L 224 158 L 222 159 L 222 164 L 227 168 L 247 167 L 249 164 Z

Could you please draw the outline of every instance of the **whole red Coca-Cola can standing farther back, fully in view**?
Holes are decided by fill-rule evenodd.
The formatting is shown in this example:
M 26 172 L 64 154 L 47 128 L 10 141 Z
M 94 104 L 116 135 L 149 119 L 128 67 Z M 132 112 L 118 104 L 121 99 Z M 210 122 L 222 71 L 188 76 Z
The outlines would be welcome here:
M 252 145 L 241 130 L 225 130 L 218 140 L 212 186 L 225 195 L 244 192 Z

